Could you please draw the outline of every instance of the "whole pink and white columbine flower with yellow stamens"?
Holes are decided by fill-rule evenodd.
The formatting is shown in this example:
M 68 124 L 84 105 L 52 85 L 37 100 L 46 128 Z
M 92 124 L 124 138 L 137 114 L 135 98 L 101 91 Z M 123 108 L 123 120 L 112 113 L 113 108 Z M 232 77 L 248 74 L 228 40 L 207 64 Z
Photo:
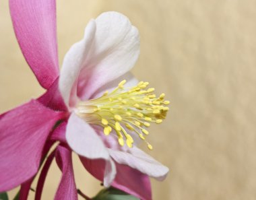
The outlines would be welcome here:
M 0 191 L 22 184 L 26 199 L 42 156 L 60 141 L 38 191 L 55 157 L 63 172 L 55 199 L 77 199 L 71 149 L 106 187 L 152 199 L 148 176 L 162 180 L 168 168 L 136 145 L 143 141 L 152 149 L 147 128 L 162 122 L 169 102 L 129 73 L 139 55 L 137 29 L 121 13 L 102 13 L 71 46 L 59 74 L 55 1 L 9 5 L 22 53 L 46 93 L 0 116 Z

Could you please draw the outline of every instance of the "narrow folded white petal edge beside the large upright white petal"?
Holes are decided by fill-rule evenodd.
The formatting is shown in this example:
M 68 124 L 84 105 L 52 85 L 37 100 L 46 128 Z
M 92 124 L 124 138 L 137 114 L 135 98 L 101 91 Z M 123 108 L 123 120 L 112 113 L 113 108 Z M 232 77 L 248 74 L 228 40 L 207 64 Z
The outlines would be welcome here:
M 95 31 L 96 23 L 94 20 L 91 20 L 88 26 L 86 26 L 83 40 L 73 44 L 64 57 L 59 77 L 59 89 L 67 107 L 75 103 L 77 93 L 76 81 L 82 69 L 83 62 L 88 55 L 87 53 L 92 46 Z

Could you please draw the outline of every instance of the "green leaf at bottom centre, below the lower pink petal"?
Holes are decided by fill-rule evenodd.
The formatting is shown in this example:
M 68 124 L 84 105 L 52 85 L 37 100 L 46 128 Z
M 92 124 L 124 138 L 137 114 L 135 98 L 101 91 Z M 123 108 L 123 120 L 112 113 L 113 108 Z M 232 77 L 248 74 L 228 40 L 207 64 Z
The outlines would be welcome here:
M 132 195 L 129 195 L 123 191 L 119 191 L 119 189 L 115 189 L 113 187 L 110 187 L 108 189 L 102 189 L 96 195 L 96 197 L 92 198 L 93 200 L 139 200 L 136 197 L 133 197 Z

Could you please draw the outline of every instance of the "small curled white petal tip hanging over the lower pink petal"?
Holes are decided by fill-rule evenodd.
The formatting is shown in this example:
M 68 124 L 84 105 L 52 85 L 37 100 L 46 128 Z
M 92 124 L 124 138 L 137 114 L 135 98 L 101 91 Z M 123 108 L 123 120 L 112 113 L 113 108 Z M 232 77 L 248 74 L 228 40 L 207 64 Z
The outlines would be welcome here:
M 115 162 L 110 159 L 106 160 L 105 172 L 104 172 L 104 187 L 110 187 L 111 183 L 115 179 L 117 169 Z

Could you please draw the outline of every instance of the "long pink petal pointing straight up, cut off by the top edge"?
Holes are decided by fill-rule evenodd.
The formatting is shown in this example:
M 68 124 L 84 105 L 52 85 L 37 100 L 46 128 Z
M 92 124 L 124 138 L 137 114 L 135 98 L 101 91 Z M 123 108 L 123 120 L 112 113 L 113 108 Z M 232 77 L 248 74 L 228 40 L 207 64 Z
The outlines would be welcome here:
M 44 88 L 59 75 L 55 0 L 10 0 L 9 8 L 22 53 Z

